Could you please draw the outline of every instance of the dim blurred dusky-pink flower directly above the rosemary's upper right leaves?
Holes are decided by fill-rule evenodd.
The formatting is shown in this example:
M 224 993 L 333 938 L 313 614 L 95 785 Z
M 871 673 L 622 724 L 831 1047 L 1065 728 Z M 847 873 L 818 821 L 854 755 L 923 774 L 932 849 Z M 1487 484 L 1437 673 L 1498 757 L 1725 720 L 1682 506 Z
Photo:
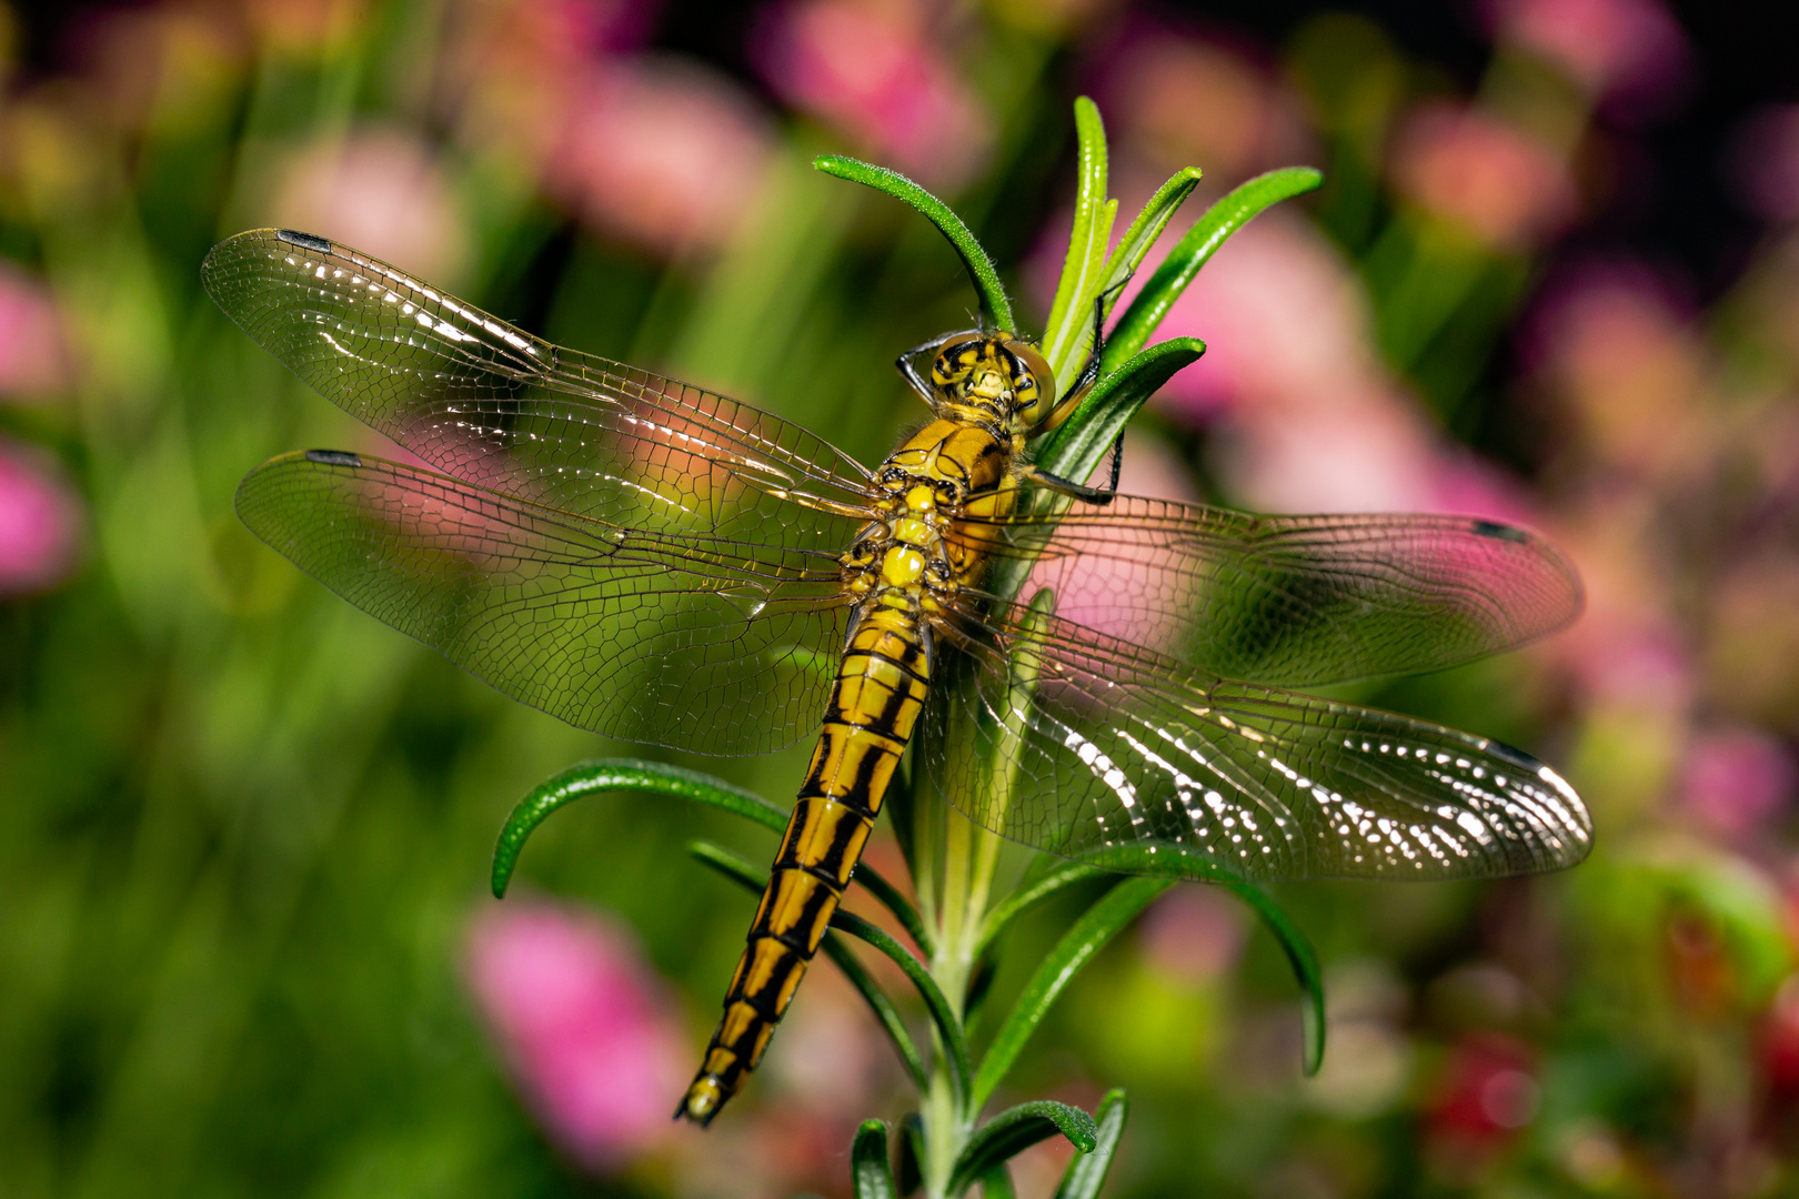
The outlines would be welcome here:
M 1198 165 L 1231 185 L 1308 151 L 1299 104 L 1259 63 L 1169 29 L 1144 25 L 1108 54 L 1101 97 L 1121 147 L 1164 176 Z

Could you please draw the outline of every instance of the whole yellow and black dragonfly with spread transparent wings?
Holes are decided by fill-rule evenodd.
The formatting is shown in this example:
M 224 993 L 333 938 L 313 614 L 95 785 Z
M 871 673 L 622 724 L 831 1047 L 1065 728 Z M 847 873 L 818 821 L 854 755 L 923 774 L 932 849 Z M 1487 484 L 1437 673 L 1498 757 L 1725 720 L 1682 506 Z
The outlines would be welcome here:
M 1590 847 L 1580 796 L 1536 759 L 1295 690 L 1569 624 L 1580 581 L 1522 528 L 1060 480 L 1033 439 L 1074 395 L 1058 403 L 1036 347 L 1004 333 L 901 356 L 932 419 L 869 469 L 324 237 L 237 234 L 201 275 L 250 338 L 416 458 L 308 449 L 254 469 L 236 505 L 270 546 L 579 728 L 711 755 L 815 737 L 678 1118 L 709 1124 L 763 1057 L 908 744 L 914 786 L 977 825 L 1101 865 L 1466 879 Z

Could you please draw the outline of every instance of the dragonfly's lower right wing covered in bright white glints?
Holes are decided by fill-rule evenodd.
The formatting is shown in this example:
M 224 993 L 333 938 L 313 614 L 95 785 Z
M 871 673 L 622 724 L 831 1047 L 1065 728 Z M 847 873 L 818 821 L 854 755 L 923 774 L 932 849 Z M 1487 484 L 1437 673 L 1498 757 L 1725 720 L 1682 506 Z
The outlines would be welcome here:
M 1223 681 L 1022 608 L 944 631 L 964 649 L 943 656 L 921 762 L 1027 845 L 1250 879 L 1491 877 L 1587 856 L 1574 791 L 1493 741 Z

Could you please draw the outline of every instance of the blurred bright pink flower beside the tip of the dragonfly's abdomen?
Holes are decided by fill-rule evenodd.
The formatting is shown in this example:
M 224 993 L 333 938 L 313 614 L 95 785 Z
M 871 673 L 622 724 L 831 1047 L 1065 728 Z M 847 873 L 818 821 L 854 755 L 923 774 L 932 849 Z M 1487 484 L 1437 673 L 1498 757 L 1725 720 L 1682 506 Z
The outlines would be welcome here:
M 684 1039 L 626 933 L 590 911 L 507 901 L 466 942 L 466 980 L 549 1136 L 613 1170 L 667 1136 Z

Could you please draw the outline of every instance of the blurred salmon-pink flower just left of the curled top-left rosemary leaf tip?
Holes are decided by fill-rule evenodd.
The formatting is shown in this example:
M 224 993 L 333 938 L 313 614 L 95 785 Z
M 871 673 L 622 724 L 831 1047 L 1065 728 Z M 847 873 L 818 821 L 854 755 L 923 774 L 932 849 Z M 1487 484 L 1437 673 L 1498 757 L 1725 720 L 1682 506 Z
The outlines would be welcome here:
M 588 70 L 543 158 L 545 185 L 594 226 L 675 255 L 723 244 L 754 207 L 768 119 L 734 83 L 673 58 Z

